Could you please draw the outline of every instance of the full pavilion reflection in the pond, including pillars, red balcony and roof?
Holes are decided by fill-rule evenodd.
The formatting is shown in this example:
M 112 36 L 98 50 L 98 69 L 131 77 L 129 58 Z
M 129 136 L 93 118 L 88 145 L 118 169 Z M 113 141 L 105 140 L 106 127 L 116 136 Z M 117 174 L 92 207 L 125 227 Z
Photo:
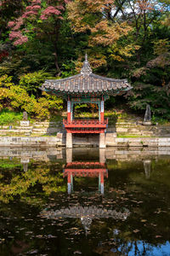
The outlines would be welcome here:
M 108 171 L 105 165 L 105 149 L 99 149 L 98 161 L 81 161 L 72 160 L 72 148 L 67 148 L 64 176 L 67 177 L 69 194 L 71 194 L 71 190 L 73 190 L 73 177 L 99 177 L 99 191 L 100 193 L 104 194 L 104 178 L 108 177 Z M 90 197 L 88 198 L 88 200 L 89 199 Z M 65 208 L 63 207 L 58 210 L 52 208 L 50 209 L 49 206 L 48 208 L 41 212 L 41 215 L 44 218 L 51 219 L 79 218 L 81 220 L 82 226 L 86 230 L 87 235 L 88 230 L 90 230 L 90 226 L 93 222 L 93 219 L 113 218 L 124 221 L 130 215 L 130 212 L 126 208 L 123 209 L 123 212 L 116 212 L 116 210 L 113 207 L 108 207 L 107 204 L 106 206 L 92 205 L 85 207 L 78 205 Z

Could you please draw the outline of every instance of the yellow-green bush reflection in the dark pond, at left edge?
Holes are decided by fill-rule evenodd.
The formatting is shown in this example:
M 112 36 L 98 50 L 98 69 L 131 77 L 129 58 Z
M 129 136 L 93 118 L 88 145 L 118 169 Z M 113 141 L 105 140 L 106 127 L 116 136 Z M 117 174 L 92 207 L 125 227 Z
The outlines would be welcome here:
M 65 191 L 61 172 L 51 172 L 50 166 L 30 166 L 27 172 L 13 170 L 8 179 L 6 174 L 8 177 L 7 172 L 1 173 L 0 176 L 0 201 L 8 202 L 16 195 L 26 196 L 32 188 L 36 189 L 37 185 L 41 185 L 45 195 Z

